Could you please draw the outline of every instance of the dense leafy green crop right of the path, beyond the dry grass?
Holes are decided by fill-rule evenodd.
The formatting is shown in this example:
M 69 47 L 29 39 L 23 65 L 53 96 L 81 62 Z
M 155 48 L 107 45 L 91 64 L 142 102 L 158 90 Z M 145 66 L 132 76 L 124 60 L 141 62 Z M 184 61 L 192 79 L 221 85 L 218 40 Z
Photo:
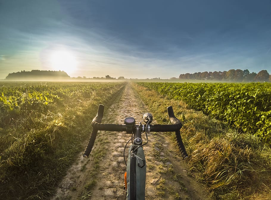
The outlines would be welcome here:
M 271 145 L 270 83 L 139 83 Z

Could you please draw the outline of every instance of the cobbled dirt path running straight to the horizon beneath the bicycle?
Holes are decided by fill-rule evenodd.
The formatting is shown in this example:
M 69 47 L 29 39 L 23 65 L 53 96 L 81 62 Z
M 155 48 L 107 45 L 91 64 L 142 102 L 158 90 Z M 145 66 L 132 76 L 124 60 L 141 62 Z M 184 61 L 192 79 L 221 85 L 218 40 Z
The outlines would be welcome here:
M 104 114 L 102 122 L 123 124 L 125 117 L 133 116 L 138 123 L 145 112 L 148 108 L 127 84 L 122 96 Z M 153 117 L 152 124 L 155 124 Z M 163 135 L 151 133 L 149 143 L 144 146 L 146 199 L 208 199 L 204 194 L 205 188 L 189 176 L 187 165 L 175 152 L 172 141 Z M 84 159 L 82 154 L 79 155 L 51 199 L 126 199 L 126 166 L 122 154 L 129 139 L 130 135 L 124 132 L 99 132 L 90 157 Z

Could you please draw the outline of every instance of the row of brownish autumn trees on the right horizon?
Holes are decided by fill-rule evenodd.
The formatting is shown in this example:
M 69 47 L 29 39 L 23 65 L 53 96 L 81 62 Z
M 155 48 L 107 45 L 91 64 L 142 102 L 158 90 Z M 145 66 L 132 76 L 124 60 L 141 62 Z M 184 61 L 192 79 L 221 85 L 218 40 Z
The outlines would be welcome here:
M 253 81 L 271 81 L 271 75 L 267 70 L 261 70 L 256 74 L 250 73 L 248 69 L 230 69 L 229 71 L 205 71 L 196 72 L 194 74 L 180 74 L 179 79 L 195 79 L 195 80 L 216 80 L 216 81 L 233 81 L 233 82 L 253 82 Z

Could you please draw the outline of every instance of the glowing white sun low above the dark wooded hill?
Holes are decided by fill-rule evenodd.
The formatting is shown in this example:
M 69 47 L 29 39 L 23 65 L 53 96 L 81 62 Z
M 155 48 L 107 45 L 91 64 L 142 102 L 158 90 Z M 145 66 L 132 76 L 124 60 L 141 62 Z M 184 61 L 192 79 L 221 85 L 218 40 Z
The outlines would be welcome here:
M 53 51 L 50 64 L 54 71 L 65 71 L 68 75 L 77 70 L 77 60 L 74 54 L 67 50 Z

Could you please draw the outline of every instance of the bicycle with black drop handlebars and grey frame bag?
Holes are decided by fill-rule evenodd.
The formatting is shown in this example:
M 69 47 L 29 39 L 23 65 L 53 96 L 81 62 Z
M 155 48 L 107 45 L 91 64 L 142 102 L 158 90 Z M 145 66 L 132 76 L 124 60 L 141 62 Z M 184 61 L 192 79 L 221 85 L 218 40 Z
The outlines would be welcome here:
M 124 119 L 124 124 L 101 124 L 104 105 L 100 104 L 96 117 L 92 120 L 92 132 L 91 137 L 88 141 L 87 147 L 83 153 L 83 157 L 88 158 L 98 130 L 103 131 L 117 131 L 117 132 L 126 132 L 127 134 L 132 134 L 130 140 L 132 140 L 132 145 L 129 147 L 129 154 L 127 163 L 125 160 L 125 148 L 130 140 L 127 141 L 123 157 L 125 165 L 127 166 L 126 172 L 124 174 L 124 182 L 126 189 L 126 199 L 127 200 L 144 200 L 145 199 L 145 182 L 146 182 L 146 160 L 143 151 L 143 146 L 148 143 L 148 134 L 150 132 L 174 132 L 177 140 L 177 145 L 179 147 L 180 153 L 183 157 L 183 160 L 188 158 L 186 149 L 183 145 L 183 141 L 180 135 L 180 129 L 182 124 L 178 120 L 173 112 L 172 106 L 167 107 L 169 120 L 172 124 L 155 124 L 151 125 L 152 115 L 150 113 L 145 113 L 143 115 L 143 121 L 145 124 L 139 122 L 136 125 L 136 120 L 133 117 L 127 117 Z M 145 132 L 147 141 L 143 143 L 141 134 Z

